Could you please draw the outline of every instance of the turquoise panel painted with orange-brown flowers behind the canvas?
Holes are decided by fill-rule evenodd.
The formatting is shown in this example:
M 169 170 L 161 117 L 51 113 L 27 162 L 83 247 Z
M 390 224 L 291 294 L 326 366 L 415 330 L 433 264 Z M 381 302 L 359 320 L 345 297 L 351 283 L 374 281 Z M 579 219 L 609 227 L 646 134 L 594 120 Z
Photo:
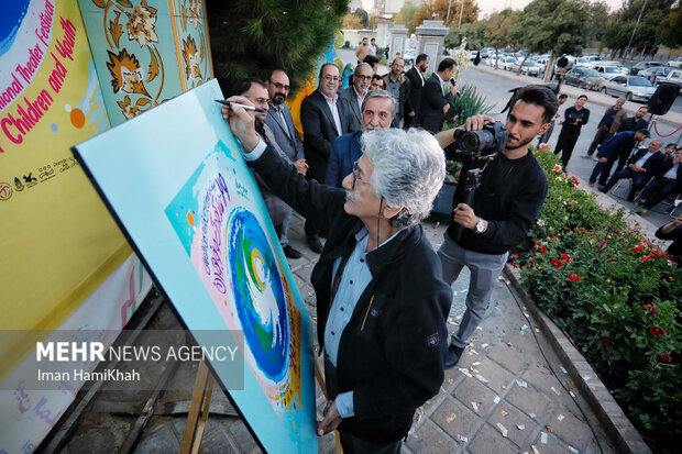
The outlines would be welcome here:
M 213 77 L 201 0 L 78 0 L 119 124 Z

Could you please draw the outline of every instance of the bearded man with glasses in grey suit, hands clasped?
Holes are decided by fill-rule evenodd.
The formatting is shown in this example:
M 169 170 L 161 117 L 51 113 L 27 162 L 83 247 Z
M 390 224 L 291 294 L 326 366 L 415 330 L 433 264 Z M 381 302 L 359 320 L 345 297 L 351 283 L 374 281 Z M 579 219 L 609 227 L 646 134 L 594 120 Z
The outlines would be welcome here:
M 267 95 L 270 96 L 270 109 L 267 110 L 265 124 L 272 131 L 274 140 L 282 152 L 294 163 L 300 174 L 306 175 L 308 164 L 306 164 L 304 155 L 304 143 L 298 135 L 298 131 L 294 128 L 292 111 L 287 104 L 284 103 L 289 95 L 289 77 L 282 69 L 275 69 L 271 73 L 265 85 L 267 86 Z M 282 223 L 279 243 L 287 257 L 300 258 L 301 253 L 292 247 L 286 234 L 290 220 L 292 208 L 287 206 Z

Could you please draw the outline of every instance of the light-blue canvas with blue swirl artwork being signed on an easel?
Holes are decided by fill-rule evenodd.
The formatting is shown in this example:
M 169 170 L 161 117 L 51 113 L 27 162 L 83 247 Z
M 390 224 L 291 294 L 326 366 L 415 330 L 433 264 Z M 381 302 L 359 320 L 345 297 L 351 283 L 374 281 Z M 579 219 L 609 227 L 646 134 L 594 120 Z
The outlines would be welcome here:
M 186 326 L 243 331 L 228 392 L 264 450 L 316 452 L 311 322 L 215 99 L 211 80 L 74 151 Z

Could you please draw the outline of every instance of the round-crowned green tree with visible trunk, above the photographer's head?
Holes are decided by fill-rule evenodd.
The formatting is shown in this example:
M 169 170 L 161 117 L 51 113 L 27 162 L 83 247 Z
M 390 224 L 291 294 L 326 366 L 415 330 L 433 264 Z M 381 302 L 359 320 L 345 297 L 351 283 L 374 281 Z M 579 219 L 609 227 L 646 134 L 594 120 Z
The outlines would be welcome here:
M 552 77 L 557 56 L 580 54 L 588 42 L 590 3 L 586 0 L 534 0 L 519 14 L 516 34 L 530 52 L 551 52 L 544 80 Z

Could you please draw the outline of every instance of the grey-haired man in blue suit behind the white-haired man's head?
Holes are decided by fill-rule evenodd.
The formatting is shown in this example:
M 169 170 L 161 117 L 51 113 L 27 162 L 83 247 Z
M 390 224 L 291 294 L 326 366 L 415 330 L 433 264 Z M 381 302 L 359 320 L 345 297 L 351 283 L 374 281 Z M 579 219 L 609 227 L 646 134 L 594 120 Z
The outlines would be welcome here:
M 395 99 L 385 90 L 370 91 L 362 102 L 362 130 L 343 134 L 334 141 L 327 167 L 327 186 L 341 187 L 343 178 L 353 171 L 353 164 L 362 155 L 361 137 L 369 131 L 388 129 L 395 111 Z

